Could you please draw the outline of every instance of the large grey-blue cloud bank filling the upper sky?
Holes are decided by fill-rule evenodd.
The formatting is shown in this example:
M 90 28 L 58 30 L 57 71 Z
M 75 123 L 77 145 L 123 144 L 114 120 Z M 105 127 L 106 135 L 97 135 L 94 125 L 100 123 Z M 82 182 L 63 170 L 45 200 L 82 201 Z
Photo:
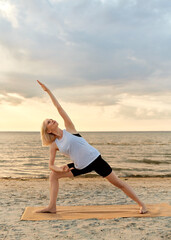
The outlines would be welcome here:
M 1 0 L 0 89 L 6 98 L 42 96 L 40 79 L 66 101 L 96 105 L 164 94 L 170 10 L 169 0 Z

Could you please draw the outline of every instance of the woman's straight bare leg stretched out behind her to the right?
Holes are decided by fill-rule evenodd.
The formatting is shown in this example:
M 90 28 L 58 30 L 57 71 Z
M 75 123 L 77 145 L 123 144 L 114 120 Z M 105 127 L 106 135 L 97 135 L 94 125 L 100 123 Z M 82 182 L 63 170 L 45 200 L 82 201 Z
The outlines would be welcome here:
M 112 183 L 113 185 L 115 185 L 116 187 L 120 188 L 128 197 L 130 197 L 131 199 L 133 199 L 136 203 L 138 203 L 138 205 L 140 206 L 140 213 L 146 213 L 147 209 L 146 206 L 143 202 L 141 202 L 141 200 L 138 198 L 138 196 L 135 194 L 135 192 L 133 191 L 133 189 L 125 182 L 123 182 L 122 180 L 120 180 L 114 172 L 111 172 L 111 174 L 109 174 L 106 179 Z

